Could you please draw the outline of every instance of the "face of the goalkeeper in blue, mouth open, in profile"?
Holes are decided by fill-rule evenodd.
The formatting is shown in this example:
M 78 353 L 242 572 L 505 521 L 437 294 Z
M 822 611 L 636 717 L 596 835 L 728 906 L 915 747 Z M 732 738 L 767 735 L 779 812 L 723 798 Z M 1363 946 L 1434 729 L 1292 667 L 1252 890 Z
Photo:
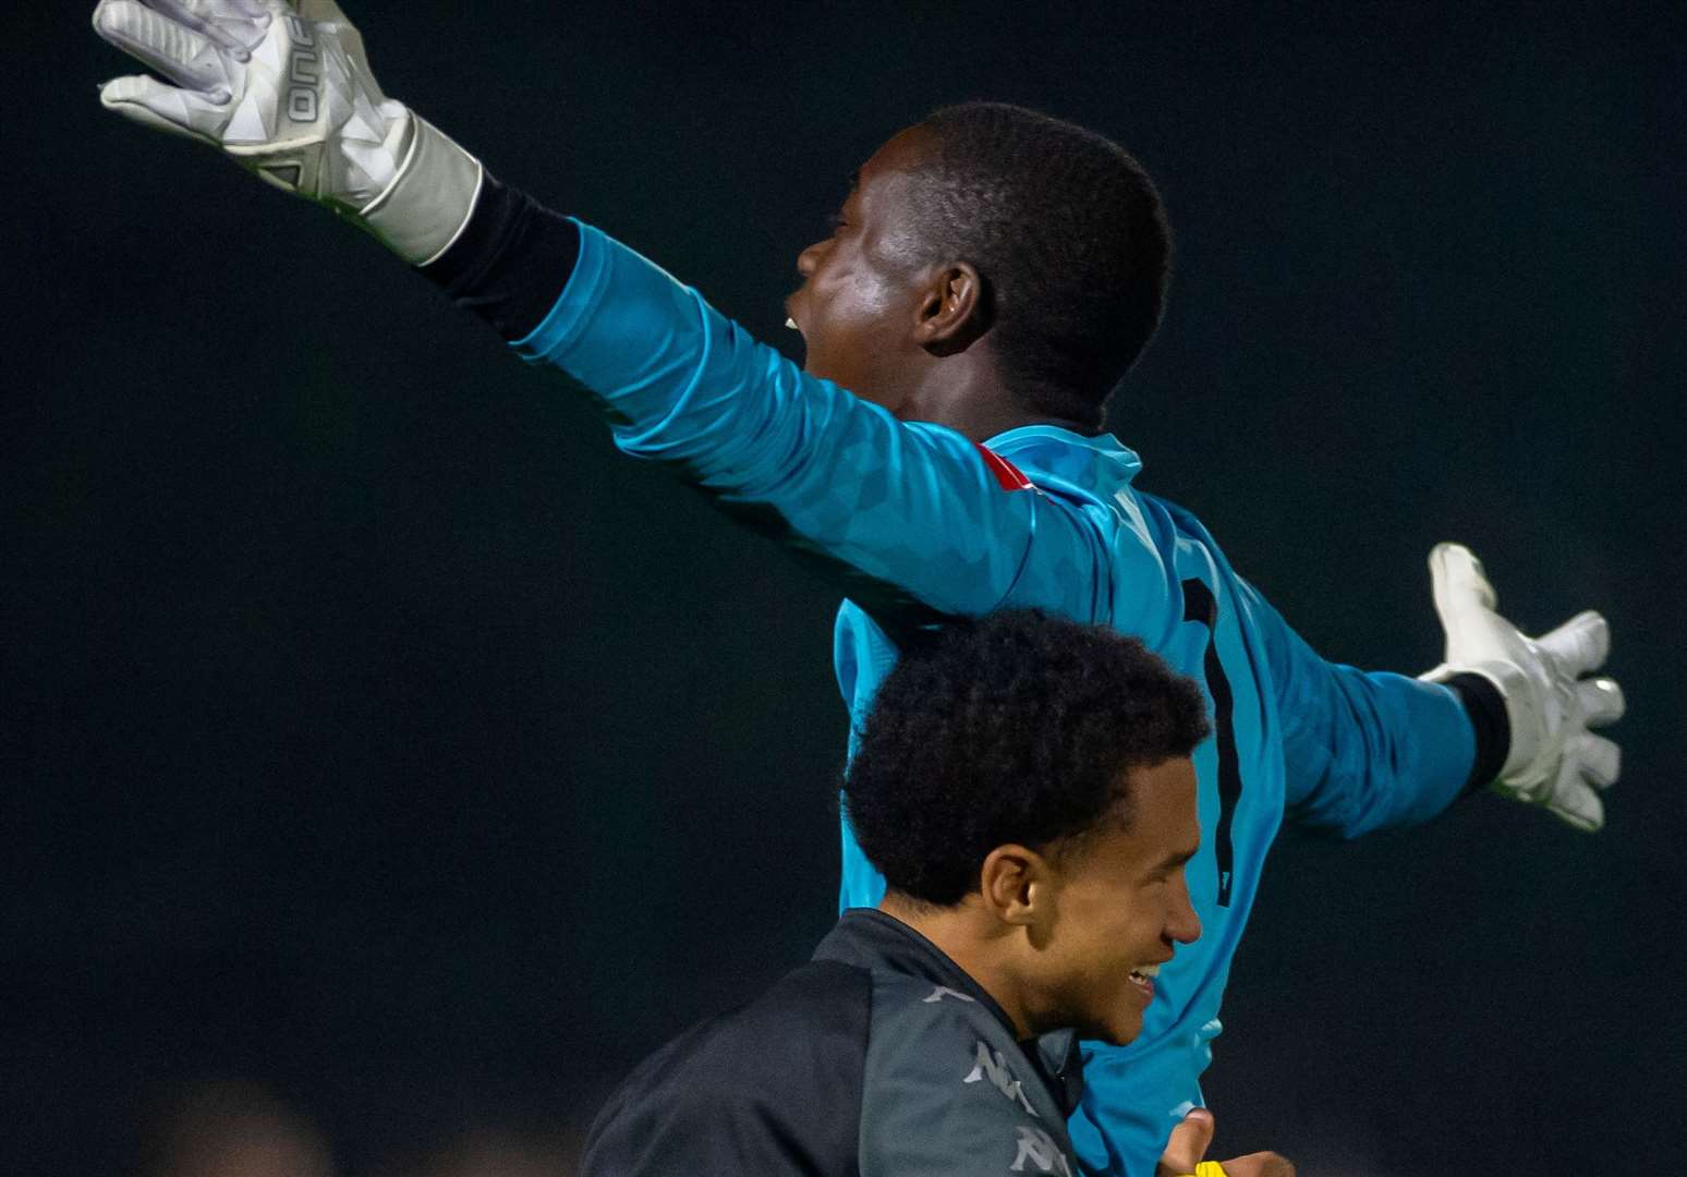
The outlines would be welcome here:
M 784 304 L 803 334 L 805 371 L 892 413 L 930 363 L 916 327 L 936 270 L 919 260 L 911 179 L 931 152 L 919 126 L 874 152 L 832 236 L 796 258 L 803 285 Z

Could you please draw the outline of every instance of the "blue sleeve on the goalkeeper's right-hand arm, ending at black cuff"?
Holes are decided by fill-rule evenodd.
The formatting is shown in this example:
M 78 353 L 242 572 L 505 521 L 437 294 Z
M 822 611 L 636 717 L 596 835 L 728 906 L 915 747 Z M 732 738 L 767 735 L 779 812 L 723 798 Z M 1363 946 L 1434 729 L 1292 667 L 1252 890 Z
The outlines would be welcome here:
M 1285 816 L 1341 838 L 1419 825 L 1464 791 L 1476 735 L 1439 683 L 1326 663 L 1238 578 L 1275 685 Z

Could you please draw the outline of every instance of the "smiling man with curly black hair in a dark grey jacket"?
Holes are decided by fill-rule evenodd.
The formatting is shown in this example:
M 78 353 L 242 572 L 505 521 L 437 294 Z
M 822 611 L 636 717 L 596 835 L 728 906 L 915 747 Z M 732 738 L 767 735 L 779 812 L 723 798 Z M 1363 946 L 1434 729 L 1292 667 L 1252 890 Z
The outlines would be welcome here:
M 958 622 L 886 676 L 844 781 L 886 877 L 798 968 L 643 1062 L 582 1177 L 1071 1177 L 1076 1034 L 1124 1045 L 1194 943 L 1189 754 L 1206 700 L 1142 642 L 1038 610 Z M 1213 1121 L 1157 1172 L 1201 1164 Z

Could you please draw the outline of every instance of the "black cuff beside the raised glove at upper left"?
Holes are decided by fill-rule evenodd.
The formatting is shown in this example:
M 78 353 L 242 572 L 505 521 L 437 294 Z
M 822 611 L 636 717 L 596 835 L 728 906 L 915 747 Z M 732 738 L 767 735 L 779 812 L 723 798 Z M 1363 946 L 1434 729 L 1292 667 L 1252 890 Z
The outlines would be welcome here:
M 533 334 L 580 256 L 580 229 L 488 172 L 462 234 L 422 273 L 506 341 Z

